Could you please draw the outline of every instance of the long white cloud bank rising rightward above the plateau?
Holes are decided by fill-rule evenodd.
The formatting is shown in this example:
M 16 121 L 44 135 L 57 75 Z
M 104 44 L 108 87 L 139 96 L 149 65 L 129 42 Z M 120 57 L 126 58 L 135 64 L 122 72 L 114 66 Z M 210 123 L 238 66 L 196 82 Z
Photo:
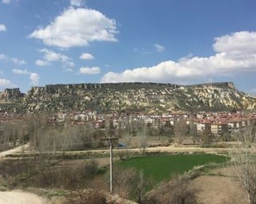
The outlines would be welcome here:
M 206 80 L 218 75 L 256 71 L 256 32 L 237 32 L 215 38 L 217 51 L 210 57 L 183 57 L 165 61 L 152 67 L 108 72 L 102 82 L 181 82 Z

